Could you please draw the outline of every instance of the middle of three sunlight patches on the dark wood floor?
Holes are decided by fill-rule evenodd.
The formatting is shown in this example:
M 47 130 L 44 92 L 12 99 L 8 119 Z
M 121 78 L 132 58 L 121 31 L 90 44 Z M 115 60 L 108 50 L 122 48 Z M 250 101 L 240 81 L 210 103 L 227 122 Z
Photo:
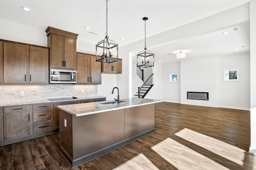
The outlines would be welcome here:
M 228 170 L 228 168 L 171 138 L 166 138 L 151 148 L 178 170 Z

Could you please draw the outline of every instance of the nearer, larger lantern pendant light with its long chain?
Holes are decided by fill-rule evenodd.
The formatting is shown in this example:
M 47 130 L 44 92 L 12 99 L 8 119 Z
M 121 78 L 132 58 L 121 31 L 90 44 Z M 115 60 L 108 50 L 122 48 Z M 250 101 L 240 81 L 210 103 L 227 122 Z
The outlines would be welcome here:
M 112 63 L 118 61 L 118 44 L 108 38 L 108 0 L 106 2 L 106 36 L 96 44 L 96 62 Z M 98 55 L 100 51 L 102 55 Z

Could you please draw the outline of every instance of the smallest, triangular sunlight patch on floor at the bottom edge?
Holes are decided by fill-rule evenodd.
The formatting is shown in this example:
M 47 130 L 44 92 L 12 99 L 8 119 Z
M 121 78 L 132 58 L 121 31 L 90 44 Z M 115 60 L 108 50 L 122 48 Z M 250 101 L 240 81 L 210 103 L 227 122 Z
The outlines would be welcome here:
M 158 170 L 158 168 L 144 154 L 138 154 L 114 170 Z

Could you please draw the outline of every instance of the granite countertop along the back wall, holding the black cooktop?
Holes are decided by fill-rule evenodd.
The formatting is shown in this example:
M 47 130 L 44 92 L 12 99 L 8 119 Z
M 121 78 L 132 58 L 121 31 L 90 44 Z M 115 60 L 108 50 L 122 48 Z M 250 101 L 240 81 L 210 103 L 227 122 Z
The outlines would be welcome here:
M 51 98 L 57 98 L 57 97 L 50 97 L 50 99 Z M 77 99 L 57 100 L 57 101 L 50 101 L 48 99 L 26 100 L 26 101 L 8 101 L 8 102 L 0 102 L 0 107 L 32 105 L 32 104 L 38 104 L 38 103 L 54 103 L 54 102 L 62 102 L 62 101 L 76 101 L 76 100 L 85 100 L 85 99 L 100 99 L 100 98 L 106 98 L 106 97 L 104 97 L 104 96 L 85 96 L 85 97 L 77 97 Z

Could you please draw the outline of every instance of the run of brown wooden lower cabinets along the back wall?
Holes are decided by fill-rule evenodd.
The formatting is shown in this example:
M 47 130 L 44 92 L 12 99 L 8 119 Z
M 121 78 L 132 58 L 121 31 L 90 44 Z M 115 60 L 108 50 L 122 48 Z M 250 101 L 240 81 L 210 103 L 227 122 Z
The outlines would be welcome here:
M 59 132 L 58 105 L 72 105 L 106 98 L 0 107 L 0 146 Z

